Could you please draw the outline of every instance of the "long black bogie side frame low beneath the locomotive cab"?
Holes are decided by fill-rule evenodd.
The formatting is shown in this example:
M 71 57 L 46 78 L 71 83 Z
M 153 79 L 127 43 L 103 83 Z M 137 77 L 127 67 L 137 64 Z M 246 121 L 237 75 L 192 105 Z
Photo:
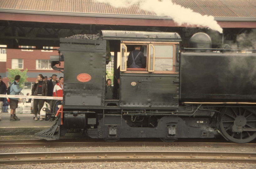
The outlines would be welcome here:
M 91 129 L 89 129 L 91 130 Z M 93 129 L 95 130 L 95 129 Z M 162 117 L 158 125 L 150 127 L 131 127 L 122 119 L 122 125 L 104 125 L 99 120 L 97 138 L 214 138 L 214 131 L 209 127 L 191 127 L 180 117 Z M 99 132 L 97 132 L 99 134 Z M 88 136 L 96 138 L 96 133 Z

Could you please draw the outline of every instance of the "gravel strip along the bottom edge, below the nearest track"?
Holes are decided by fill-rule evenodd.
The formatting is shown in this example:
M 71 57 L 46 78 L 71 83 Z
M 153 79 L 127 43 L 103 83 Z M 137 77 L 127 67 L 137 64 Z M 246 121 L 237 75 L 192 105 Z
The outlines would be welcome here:
M 248 163 L 209 163 L 209 162 L 87 162 L 61 164 L 25 164 L 2 165 L 4 169 L 57 169 L 57 168 L 84 168 L 84 169 L 255 169 L 256 164 Z

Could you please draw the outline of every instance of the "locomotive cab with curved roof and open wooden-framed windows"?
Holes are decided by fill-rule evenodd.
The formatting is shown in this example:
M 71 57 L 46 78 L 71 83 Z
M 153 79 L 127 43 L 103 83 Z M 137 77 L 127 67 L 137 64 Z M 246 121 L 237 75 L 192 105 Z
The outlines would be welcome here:
M 104 39 L 118 41 L 120 44 L 120 54 L 116 54 L 120 56 L 115 63 L 118 72 L 116 79 L 120 79 L 119 106 L 178 106 L 177 53 L 181 38 L 177 33 L 102 31 L 102 35 Z M 141 46 L 140 51 L 146 60 L 144 68 L 128 68 L 128 55 L 135 45 Z

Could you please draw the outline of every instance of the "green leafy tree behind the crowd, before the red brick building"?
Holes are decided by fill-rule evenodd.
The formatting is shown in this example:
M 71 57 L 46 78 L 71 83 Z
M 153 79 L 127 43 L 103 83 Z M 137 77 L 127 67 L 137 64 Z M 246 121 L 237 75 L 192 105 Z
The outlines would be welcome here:
M 25 82 L 27 82 L 27 71 L 28 69 L 24 70 L 23 72 L 21 69 L 8 69 L 8 79 L 12 83 L 14 81 L 14 78 L 16 75 L 20 75 L 20 80 L 19 80 L 19 87 L 23 88 L 25 85 Z

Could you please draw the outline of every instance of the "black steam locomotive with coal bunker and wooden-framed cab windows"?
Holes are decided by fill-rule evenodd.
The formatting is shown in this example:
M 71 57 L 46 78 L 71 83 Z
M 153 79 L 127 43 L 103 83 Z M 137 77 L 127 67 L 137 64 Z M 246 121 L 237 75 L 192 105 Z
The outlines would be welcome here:
M 193 35 L 183 52 L 177 33 L 102 31 L 102 37 L 60 39 L 51 64 L 64 72 L 62 109 L 58 117 L 47 110 L 55 125 L 35 137 L 59 139 L 69 129 L 106 141 L 256 137 L 255 53 L 212 49 L 205 33 Z M 107 41 L 115 58 L 112 100 L 105 99 Z M 127 68 L 128 52 L 138 44 L 146 68 Z M 61 61 L 64 70 L 55 66 Z

